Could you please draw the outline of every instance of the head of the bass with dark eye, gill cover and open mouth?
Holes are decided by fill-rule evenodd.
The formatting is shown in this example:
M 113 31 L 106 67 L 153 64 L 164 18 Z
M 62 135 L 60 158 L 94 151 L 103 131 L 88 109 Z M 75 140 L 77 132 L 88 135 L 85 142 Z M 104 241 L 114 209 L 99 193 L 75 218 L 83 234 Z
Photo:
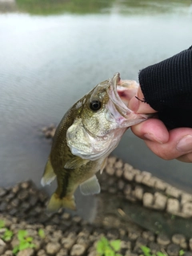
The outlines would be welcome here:
M 90 161 L 108 156 L 127 128 L 149 118 L 127 107 L 137 90 L 138 83 L 121 80 L 117 73 L 79 100 L 79 114 L 66 132 L 70 151 Z

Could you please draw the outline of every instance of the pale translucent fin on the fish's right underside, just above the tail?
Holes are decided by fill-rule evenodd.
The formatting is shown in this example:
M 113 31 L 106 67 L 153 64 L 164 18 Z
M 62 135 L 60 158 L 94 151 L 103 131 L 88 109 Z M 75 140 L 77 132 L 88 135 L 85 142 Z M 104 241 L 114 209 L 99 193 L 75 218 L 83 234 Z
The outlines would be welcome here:
M 94 175 L 89 180 L 84 181 L 80 185 L 80 190 L 83 195 L 93 195 L 95 193 L 100 193 L 101 188 L 98 183 L 98 178 Z

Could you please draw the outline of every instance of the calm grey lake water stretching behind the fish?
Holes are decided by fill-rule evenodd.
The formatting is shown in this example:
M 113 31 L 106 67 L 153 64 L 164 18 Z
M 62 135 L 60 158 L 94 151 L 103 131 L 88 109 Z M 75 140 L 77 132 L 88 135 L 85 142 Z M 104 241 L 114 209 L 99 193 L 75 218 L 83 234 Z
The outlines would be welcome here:
M 55 2 L 45 10 L 38 2 L 0 1 L 0 186 L 41 186 L 50 143 L 40 128 L 58 124 L 97 83 L 117 71 L 138 80 L 140 69 L 192 44 L 190 1 Z M 190 164 L 159 159 L 130 131 L 114 154 L 192 192 Z

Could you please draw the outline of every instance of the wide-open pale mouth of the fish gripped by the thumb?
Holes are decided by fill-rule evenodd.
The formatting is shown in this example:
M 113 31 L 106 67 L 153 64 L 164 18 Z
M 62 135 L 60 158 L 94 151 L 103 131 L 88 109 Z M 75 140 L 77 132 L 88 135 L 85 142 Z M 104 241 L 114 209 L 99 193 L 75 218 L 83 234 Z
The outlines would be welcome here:
M 125 125 L 134 125 L 146 120 L 150 115 L 138 114 L 128 108 L 130 99 L 136 95 L 138 83 L 134 80 L 122 80 L 120 73 L 114 74 L 110 79 L 107 93 L 110 97 L 110 112 L 113 116 L 122 116 L 121 122 Z M 113 106 L 112 106 L 112 104 Z M 115 110 L 114 110 L 115 108 Z M 118 115 L 117 115 L 118 112 Z M 118 118 L 119 119 L 119 118 Z

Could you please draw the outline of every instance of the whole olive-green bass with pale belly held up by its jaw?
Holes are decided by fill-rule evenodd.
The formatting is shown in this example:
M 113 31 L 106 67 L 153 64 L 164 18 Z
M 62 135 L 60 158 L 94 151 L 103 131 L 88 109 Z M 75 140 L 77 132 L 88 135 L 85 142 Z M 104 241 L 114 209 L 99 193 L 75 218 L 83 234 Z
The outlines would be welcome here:
M 118 146 L 127 128 L 149 118 L 131 111 L 127 105 L 138 83 L 112 79 L 98 83 L 63 116 L 56 129 L 50 155 L 42 176 L 42 186 L 57 177 L 58 187 L 50 197 L 48 212 L 76 210 L 74 192 L 100 193 L 96 173 L 106 166 L 107 156 Z

